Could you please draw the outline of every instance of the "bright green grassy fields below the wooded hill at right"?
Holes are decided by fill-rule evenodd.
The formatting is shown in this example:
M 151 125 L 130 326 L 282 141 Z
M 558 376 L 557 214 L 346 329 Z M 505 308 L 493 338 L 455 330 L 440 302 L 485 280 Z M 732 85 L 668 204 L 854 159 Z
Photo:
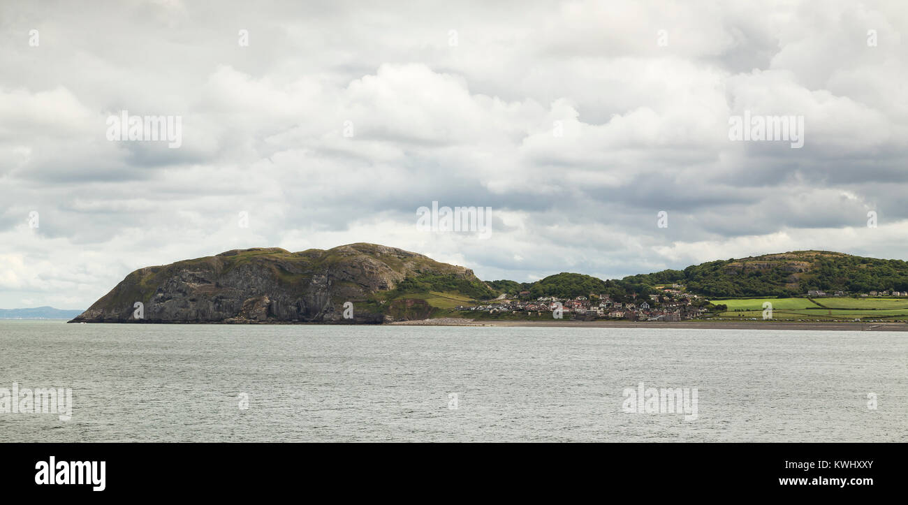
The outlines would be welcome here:
M 725 304 L 725 319 L 763 319 L 763 303 L 773 304 L 773 319 L 784 321 L 854 321 L 858 320 L 908 320 L 908 299 L 905 298 L 742 298 L 714 300 Z M 822 306 L 821 306 L 822 305 Z

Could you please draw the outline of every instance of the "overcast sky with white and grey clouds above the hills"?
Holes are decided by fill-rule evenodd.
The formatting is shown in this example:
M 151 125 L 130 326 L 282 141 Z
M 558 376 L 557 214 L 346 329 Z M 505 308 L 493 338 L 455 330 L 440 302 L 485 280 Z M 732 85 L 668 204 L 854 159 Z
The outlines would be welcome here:
M 3 308 L 254 246 L 517 281 L 908 259 L 902 0 L 94 5 L 0 4 Z M 122 111 L 182 144 L 108 140 Z M 745 111 L 804 146 L 731 140 Z M 490 207 L 489 236 L 419 230 L 433 201 Z

